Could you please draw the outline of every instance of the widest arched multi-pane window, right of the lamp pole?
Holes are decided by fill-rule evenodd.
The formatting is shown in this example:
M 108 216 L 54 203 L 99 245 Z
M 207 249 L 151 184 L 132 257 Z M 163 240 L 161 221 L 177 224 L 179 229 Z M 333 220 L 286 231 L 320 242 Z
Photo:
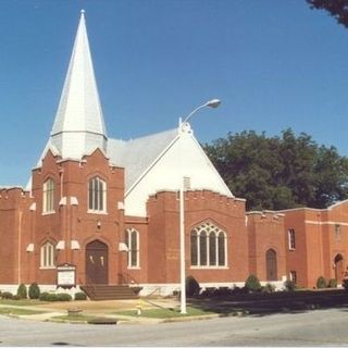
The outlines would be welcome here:
M 190 234 L 191 265 L 202 268 L 226 266 L 226 234 L 207 222 Z

